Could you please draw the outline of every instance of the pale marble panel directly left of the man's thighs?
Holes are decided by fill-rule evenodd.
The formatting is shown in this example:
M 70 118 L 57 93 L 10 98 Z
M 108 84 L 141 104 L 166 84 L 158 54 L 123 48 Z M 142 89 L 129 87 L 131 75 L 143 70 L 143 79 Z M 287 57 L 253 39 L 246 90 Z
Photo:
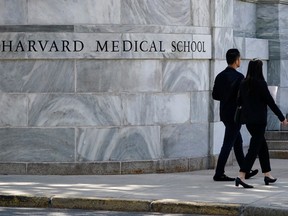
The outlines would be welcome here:
M 210 139 L 212 147 L 210 148 L 211 155 L 217 155 L 220 153 L 223 145 L 223 138 L 225 133 L 225 126 L 222 122 L 210 123 Z

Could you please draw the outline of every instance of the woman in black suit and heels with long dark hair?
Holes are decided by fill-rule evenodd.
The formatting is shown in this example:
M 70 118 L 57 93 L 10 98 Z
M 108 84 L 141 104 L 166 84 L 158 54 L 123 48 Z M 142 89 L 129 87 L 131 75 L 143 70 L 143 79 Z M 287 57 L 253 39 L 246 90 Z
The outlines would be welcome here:
M 247 130 L 251 135 L 248 153 L 245 156 L 243 165 L 240 167 L 239 176 L 235 180 L 236 186 L 240 184 L 244 188 L 253 188 L 252 185 L 246 184 L 244 179 L 245 174 L 251 170 L 257 155 L 264 174 L 265 185 L 274 183 L 277 180 L 270 173 L 269 152 L 264 136 L 267 125 L 267 105 L 282 123 L 287 124 L 287 120 L 275 104 L 268 90 L 262 66 L 263 63 L 259 59 L 253 59 L 249 62 L 247 75 L 240 85 L 237 100 L 238 106 L 242 107 L 241 123 L 246 124 Z

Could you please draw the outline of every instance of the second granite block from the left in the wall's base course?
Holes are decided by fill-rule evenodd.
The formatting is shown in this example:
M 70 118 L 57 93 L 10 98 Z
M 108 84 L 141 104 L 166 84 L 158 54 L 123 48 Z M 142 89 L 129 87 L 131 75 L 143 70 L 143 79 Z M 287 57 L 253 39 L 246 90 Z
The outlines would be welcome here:
M 28 175 L 118 175 L 119 162 L 106 163 L 28 163 Z

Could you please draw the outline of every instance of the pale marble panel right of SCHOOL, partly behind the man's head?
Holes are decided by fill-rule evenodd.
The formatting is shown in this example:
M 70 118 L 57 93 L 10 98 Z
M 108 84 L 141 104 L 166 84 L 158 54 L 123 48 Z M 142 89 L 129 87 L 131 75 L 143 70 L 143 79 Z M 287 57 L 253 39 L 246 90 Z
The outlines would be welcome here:
M 226 59 L 227 50 L 233 48 L 233 29 L 214 28 L 213 29 L 213 58 Z

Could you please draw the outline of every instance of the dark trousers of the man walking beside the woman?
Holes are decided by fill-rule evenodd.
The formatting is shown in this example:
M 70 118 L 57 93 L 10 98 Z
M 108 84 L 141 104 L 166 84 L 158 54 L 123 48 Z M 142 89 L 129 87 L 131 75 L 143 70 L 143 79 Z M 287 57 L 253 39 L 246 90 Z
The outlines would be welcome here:
M 240 133 L 241 124 L 236 124 L 234 122 L 223 123 L 225 125 L 225 135 L 216 166 L 215 176 L 221 176 L 224 174 L 224 168 L 232 147 L 239 166 L 241 167 L 244 162 L 243 140 Z

